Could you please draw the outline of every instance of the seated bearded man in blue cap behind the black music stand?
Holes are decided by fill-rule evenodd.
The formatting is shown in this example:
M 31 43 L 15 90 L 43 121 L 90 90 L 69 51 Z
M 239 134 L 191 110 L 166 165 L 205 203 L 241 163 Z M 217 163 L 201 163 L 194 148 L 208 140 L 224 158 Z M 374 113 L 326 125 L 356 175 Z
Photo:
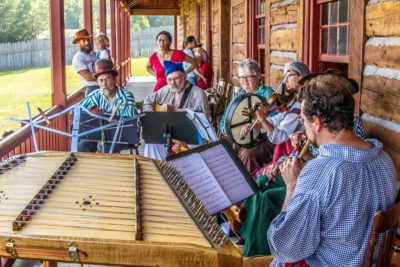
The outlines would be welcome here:
M 143 103 L 143 111 L 153 111 L 156 104 L 160 111 L 189 109 L 202 112 L 208 117 L 207 96 L 201 88 L 186 80 L 182 63 L 164 60 L 167 85 L 148 96 Z M 167 150 L 164 145 L 146 144 L 144 155 L 154 159 L 165 159 Z

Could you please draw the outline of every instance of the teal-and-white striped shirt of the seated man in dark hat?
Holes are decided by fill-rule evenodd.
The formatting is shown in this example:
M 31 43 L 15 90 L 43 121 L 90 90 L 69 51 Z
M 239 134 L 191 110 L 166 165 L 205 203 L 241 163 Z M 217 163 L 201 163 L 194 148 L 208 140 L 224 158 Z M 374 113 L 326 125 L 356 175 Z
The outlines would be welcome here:
M 124 117 L 132 117 L 137 114 L 135 98 L 133 94 L 125 89 L 117 88 L 117 93 L 112 101 L 112 104 L 108 102 L 107 96 L 104 94 L 102 89 L 98 89 L 93 91 L 90 95 L 86 96 L 80 102 L 81 107 L 84 107 L 88 110 L 91 108 L 102 109 L 105 113 L 111 114 L 117 105 L 120 103 L 120 106 L 117 110 L 116 115 Z

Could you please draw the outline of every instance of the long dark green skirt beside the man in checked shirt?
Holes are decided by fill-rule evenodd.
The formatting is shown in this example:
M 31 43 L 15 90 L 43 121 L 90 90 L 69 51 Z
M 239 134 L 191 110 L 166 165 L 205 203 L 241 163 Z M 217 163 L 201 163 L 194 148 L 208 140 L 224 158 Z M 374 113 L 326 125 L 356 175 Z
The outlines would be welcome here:
M 256 183 L 261 191 L 246 199 L 243 206 L 247 216 L 243 221 L 239 233 L 245 240 L 243 256 L 270 255 L 267 231 L 272 220 L 281 212 L 286 195 L 286 186 L 282 176 L 267 186 L 268 177 L 261 175 Z M 264 191 L 265 190 L 265 191 Z

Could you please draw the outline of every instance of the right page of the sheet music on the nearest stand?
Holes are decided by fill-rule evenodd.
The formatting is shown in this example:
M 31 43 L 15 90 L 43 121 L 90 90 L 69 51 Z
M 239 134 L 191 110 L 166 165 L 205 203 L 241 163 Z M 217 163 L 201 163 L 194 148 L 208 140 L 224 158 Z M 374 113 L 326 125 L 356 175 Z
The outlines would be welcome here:
M 200 155 L 232 204 L 254 194 L 254 190 L 223 145 L 207 149 Z

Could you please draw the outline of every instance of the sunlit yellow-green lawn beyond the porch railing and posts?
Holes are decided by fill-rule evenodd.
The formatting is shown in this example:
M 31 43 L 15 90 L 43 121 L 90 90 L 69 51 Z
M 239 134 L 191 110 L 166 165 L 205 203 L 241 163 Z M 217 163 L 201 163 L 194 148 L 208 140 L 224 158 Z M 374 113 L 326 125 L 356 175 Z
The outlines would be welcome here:
M 146 71 L 148 58 L 132 59 L 134 76 L 149 76 Z M 80 88 L 81 82 L 71 65 L 66 67 L 67 93 Z M 16 130 L 19 123 L 9 117 L 27 118 L 26 101 L 29 101 L 32 116 L 51 106 L 51 72 L 49 67 L 0 71 L 0 138 L 6 130 Z

